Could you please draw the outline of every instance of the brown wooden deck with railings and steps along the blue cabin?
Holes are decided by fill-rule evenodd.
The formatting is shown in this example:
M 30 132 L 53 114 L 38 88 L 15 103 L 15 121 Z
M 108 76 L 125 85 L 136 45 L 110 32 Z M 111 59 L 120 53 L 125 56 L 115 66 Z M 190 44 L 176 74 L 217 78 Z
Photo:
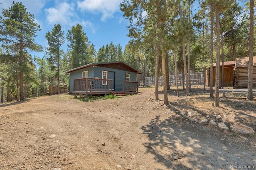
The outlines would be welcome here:
M 138 93 L 138 82 L 135 81 L 123 81 L 122 91 L 114 91 L 112 88 L 112 79 L 98 79 L 98 78 L 81 78 L 74 79 L 74 91 L 76 95 L 109 95 L 109 94 L 137 94 Z

